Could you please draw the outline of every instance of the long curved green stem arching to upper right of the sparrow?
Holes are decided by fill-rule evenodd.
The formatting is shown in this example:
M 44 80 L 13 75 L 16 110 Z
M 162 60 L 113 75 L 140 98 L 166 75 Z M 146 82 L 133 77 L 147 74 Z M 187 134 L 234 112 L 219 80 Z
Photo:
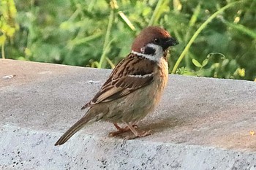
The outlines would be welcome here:
M 213 20 L 214 18 L 217 17 L 217 15 L 219 15 L 219 13 L 225 11 L 225 9 L 233 7 L 234 5 L 241 3 L 242 1 L 234 1 L 230 4 L 227 4 L 225 7 L 222 7 L 221 9 L 219 9 L 217 12 L 214 12 L 213 15 L 211 15 L 211 17 L 209 17 L 198 29 L 197 31 L 195 31 L 195 34 L 192 36 L 192 38 L 189 40 L 189 42 L 187 43 L 187 46 L 184 48 L 183 52 L 181 53 L 181 55 L 178 57 L 178 60 L 176 61 L 174 67 L 173 67 L 173 71 L 171 72 L 171 74 L 174 74 L 178 68 L 178 65 L 181 63 L 182 59 L 184 58 L 184 56 L 187 54 L 189 48 L 191 47 L 192 43 L 195 42 L 195 39 L 197 38 L 197 36 L 200 34 L 201 31 L 203 31 L 204 28 L 206 28 L 206 26 L 208 25 L 208 23 L 211 22 L 211 20 Z

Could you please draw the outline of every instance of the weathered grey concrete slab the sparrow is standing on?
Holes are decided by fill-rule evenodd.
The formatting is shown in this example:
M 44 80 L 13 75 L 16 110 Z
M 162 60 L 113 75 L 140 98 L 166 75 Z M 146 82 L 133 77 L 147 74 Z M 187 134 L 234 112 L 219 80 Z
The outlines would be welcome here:
M 256 169 L 256 82 L 170 75 L 152 136 L 123 143 L 110 123 L 55 142 L 106 69 L 0 60 L 0 169 Z

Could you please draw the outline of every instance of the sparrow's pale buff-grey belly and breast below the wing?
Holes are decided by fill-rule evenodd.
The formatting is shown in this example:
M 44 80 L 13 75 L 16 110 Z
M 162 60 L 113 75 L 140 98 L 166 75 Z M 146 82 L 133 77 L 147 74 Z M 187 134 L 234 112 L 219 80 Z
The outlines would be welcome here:
M 159 104 L 166 82 L 167 79 L 159 77 L 152 82 L 152 85 L 119 98 L 116 100 L 116 104 L 108 106 L 109 112 L 103 119 L 113 123 L 129 123 L 142 120 L 148 113 L 153 112 Z

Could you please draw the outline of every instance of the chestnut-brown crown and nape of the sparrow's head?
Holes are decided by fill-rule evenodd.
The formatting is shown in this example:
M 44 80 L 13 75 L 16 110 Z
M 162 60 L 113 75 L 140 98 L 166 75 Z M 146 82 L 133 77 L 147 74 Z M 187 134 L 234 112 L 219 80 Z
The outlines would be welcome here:
M 170 38 L 170 34 L 165 29 L 159 26 L 148 26 L 144 28 L 136 37 L 132 44 L 132 50 L 141 53 L 140 48 L 146 46 L 148 43 L 153 42 L 154 39 Z

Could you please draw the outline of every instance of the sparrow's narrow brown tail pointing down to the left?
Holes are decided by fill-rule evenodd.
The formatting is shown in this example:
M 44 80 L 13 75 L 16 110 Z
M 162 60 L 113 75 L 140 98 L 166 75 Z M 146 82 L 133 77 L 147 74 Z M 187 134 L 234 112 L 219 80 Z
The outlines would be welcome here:
M 61 144 L 64 144 L 65 142 L 67 142 L 67 140 L 69 138 L 71 138 L 71 136 L 73 136 L 76 132 L 78 132 L 81 128 L 83 128 L 84 125 L 86 125 L 86 123 L 89 123 L 89 122 L 95 122 L 95 121 L 98 121 L 102 118 L 102 114 L 99 114 L 97 113 L 98 110 L 96 109 L 93 109 L 93 107 L 91 107 L 86 115 L 84 115 L 80 120 L 78 120 L 77 123 L 75 123 L 74 125 L 72 125 L 71 128 L 69 128 L 69 130 L 67 130 L 65 132 L 65 134 L 63 134 L 61 136 L 61 138 L 56 142 L 56 144 L 54 144 L 55 146 L 56 145 L 61 145 Z

